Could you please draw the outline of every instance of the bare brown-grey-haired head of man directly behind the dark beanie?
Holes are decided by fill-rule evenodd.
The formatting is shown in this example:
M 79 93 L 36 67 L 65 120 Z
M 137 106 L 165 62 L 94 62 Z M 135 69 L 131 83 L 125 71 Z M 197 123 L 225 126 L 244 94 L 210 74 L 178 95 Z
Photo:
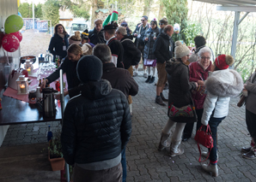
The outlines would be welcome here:
M 111 50 L 107 44 L 96 44 L 93 49 L 93 55 L 98 57 L 103 64 L 111 62 L 112 59 Z

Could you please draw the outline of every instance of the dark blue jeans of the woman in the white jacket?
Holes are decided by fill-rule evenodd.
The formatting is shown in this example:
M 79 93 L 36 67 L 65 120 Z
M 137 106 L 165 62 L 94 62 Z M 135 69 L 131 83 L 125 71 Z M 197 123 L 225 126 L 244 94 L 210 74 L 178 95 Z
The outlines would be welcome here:
M 217 162 L 217 157 L 216 157 L 216 151 L 217 151 L 217 149 L 216 149 L 217 126 L 219 126 L 219 124 L 222 122 L 222 120 L 225 119 L 225 117 L 222 117 L 222 118 L 210 117 L 210 120 L 209 120 L 210 132 L 212 133 L 211 137 L 213 138 L 213 148 L 210 150 L 210 156 L 209 156 L 211 164 L 216 164 L 216 162 Z

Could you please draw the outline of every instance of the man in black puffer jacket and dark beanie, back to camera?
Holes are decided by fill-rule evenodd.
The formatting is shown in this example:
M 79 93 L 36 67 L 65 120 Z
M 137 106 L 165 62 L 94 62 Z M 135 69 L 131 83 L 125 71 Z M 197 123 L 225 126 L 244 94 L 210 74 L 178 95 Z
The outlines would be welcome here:
M 81 94 L 64 110 L 61 143 L 74 181 L 122 181 L 121 151 L 131 136 L 125 95 L 101 79 L 102 63 L 83 56 L 77 63 Z

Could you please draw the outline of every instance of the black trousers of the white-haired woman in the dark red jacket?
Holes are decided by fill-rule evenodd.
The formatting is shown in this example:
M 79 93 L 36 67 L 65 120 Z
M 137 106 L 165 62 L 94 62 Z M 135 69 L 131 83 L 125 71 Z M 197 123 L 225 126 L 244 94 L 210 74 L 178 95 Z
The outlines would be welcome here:
M 197 130 L 198 130 L 199 127 L 202 126 L 201 119 L 202 119 L 202 115 L 204 113 L 204 109 L 196 109 L 196 113 L 198 115 L 198 122 L 197 122 Z M 193 132 L 193 127 L 194 127 L 194 123 L 186 123 L 182 138 L 191 138 L 192 132 Z

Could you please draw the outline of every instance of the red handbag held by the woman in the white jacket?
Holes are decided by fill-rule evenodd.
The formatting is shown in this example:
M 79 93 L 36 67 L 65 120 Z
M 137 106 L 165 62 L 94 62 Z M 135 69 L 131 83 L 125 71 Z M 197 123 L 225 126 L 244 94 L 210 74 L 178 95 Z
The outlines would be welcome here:
M 200 152 L 200 157 L 199 157 L 199 160 L 198 160 L 199 162 L 202 162 L 201 161 L 201 149 L 200 149 L 199 144 L 202 144 L 204 147 L 206 147 L 210 150 L 213 148 L 213 138 L 211 137 L 210 126 L 207 125 L 206 131 L 202 130 L 203 127 L 204 127 L 204 125 L 202 125 L 198 129 L 198 131 L 196 133 L 196 136 L 195 136 L 195 140 L 198 143 L 198 150 Z M 208 159 L 208 157 L 210 156 L 210 150 L 208 152 L 207 158 L 204 161 L 206 161 Z

